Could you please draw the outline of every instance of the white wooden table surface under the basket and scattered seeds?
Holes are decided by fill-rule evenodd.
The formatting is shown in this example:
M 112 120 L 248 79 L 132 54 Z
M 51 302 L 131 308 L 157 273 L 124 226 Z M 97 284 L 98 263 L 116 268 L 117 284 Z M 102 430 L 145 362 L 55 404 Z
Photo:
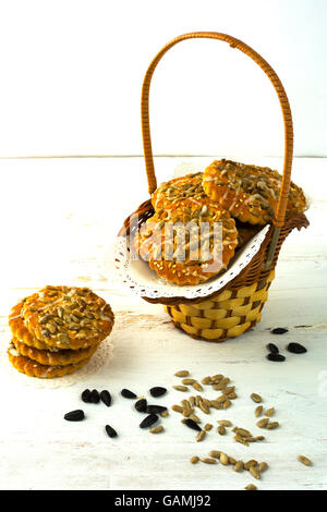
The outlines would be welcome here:
M 171 176 L 181 160 L 186 159 L 158 158 L 158 181 Z M 278 159 L 253 161 L 280 169 Z M 249 483 L 259 489 L 327 488 L 327 159 L 295 159 L 293 169 L 293 180 L 312 198 L 311 227 L 284 243 L 261 324 L 241 338 L 215 344 L 189 338 L 160 305 L 147 304 L 108 279 L 110 240 L 147 198 L 141 158 L 0 160 L 1 343 L 10 339 L 10 307 L 45 284 L 86 284 L 116 314 L 113 358 L 88 381 L 35 389 L 0 374 L 1 489 L 242 489 Z M 272 327 L 288 327 L 289 332 L 272 336 Z M 284 363 L 265 359 L 269 341 L 287 355 Z M 287 353 L 289 341 L 303 343 L 308 352 Z M 150 387 L 165 386 L 169 393 L 152 402 L 171 406 L 184 398 L 171 390 L 178 380 L 173 374 L 182 368 L 198 379 L 222 373 L 237 386 L 232 407 L 202 415 L 215 431 L 201 443 L 173 412 L 162 419 L 165 434 L 140 429 L 141 415 L 119 395 L 130 388 L 148 397 Z M 109 389 L 113 405 L 82 403 L 86 387 Z M 265 406 L 276 407 L 279 429 L 255 426 L 255 404 L 249 398 L 253 391 L 262 394 Z M 65 412 L 81 405 L 87 419 L 63 420 Z M 219 418 L 264 434 L 266 440 L 246 448 L 234 442 L 231 431 L 219 436 Z M 117 439 L 106 436 L 107 423 L 119 431 Z M 213 449 L 266 461 L 269 470 L 257 483 L 247 472 L 237 474 L 220 464 L 190 464 L 192 455 L 205 456 Z M 312 459 L 313 466 L 300 464 L 299 454 Z

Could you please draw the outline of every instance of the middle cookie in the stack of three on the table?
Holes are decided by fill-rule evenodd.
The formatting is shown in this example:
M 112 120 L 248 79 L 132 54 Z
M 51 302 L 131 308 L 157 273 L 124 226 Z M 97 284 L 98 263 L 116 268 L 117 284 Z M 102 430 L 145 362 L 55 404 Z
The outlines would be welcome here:
M 34 346 L 28 346 L 25 343 L 12 339 L 12 344 L 21 355 L 28 357 L 29 359 L 36 361 L 40 365 L 46 366 L 65 366 L 75 365 L 89 357 L 96 352 L 98 345 L 88 346 L 87 349 L 78 350 L 39 350 Z

